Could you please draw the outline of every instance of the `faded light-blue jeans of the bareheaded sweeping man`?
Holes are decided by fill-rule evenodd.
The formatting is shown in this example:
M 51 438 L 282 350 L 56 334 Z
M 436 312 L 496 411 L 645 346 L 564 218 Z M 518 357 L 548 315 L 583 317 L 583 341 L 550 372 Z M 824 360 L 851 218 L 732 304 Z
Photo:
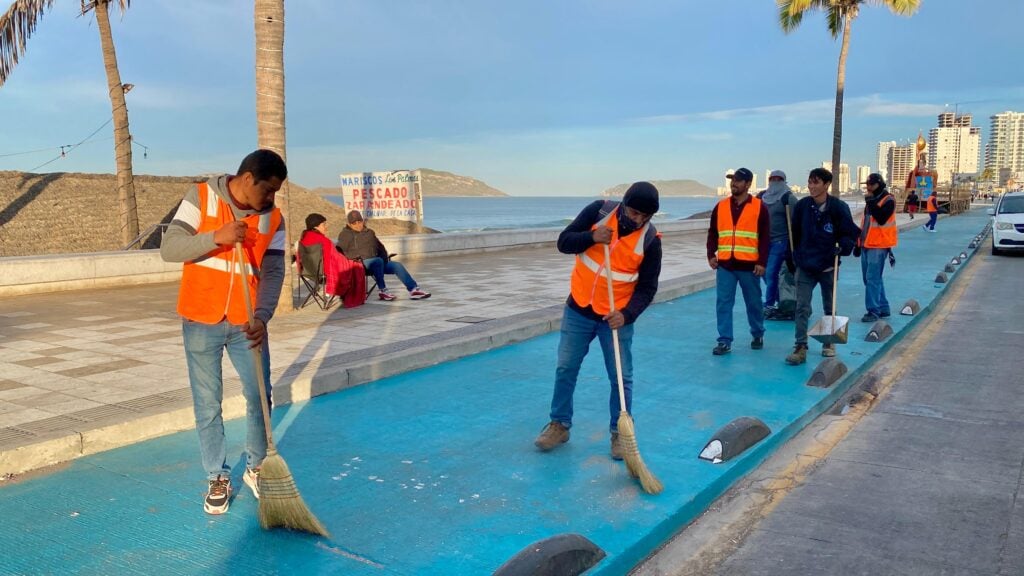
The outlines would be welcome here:
M 249 339 L 241 326 L 228 324 L 203 324 L 185 320 L 181 325 L 184 337 L 185 363 L 188 365 L 188 383 L 193 392 L 193 410 L 196 430 L 199 433 L 199 451 L 203 468 L 210 480 L 218 475 L 229 476 L 227 453 L 224 447 L 224 418 L 221 403 L 224 399 L 224 381 L 221 361 L 224 349 L 231 365 L 242 379 L 242 395 L 246 399 L 246 465 L 258 467 L 266 457 L 266 431 L 263 411 L 260 408 L 259 384 L 256 364 Z M 270 355 L 266 342 L 262 349 L 263 374 L 266 378 L 267 404 L 270 402 Z

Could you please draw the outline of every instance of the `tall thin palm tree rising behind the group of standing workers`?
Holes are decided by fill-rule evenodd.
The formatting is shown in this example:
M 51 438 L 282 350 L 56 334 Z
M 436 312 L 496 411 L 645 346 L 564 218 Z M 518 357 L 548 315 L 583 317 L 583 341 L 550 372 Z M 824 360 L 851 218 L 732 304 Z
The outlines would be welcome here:
M 828 33 L 833 40 L 843 31 L 843 45 L 839 51 L 839 72 L 836 78 L 836 124 L 833 128 L 833 170 L 840 167 L 843 148 L 843 91 L 846 86 L 846 54 L 850 49 L 850 28 L 863 5 L 883 4 L 895 14 L 909 16 L 921 7 L 921 0 L 775 0 L 778 5 L 778 23 L 786 34 L 800 27 L 804 14 L 811 10 L 825 12 Z M 839 196 L 839 178 L 833 178 L 833 194 Z

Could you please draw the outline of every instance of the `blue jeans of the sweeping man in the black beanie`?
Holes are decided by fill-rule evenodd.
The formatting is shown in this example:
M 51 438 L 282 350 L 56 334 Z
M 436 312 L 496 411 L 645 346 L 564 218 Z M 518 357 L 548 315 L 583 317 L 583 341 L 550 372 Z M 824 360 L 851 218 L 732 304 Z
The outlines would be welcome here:
M 555 393 L 551 398 L 551 419 L 572 427 L 572 393 L 575 390 L 580 366 L 590 351 L 590 343 L 597 336 L 604 353 L 604 369 L 608 372 L 611 393 L 608 395 L 608 429 L 618 429 L 618 380 L 615 377 L 615 353 L 611 343 L 611 329 L 603 320 L 592 320 L 568 305 L 562 314 L 561 338 L 558 340 L 558 367 L 555 369 Z M 618 329 L 618 349 L 623 363 L 623 389 L 626 392 L 626 411 L 633 413 L 633 325 Z

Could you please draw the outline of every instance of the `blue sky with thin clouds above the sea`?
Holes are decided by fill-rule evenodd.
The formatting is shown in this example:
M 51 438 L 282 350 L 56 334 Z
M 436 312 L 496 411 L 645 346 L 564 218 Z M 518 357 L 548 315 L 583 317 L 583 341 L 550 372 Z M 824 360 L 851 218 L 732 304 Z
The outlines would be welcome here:
M 10 0 L 8 0 L 9 2 Z M 5 3 L 6 4 L 6 3 Z M 57 0 L 0 86 L 0 169 L 32 170 L 111 115 L 99 41 Z M 839 42 L 773 0 L 293 0 L 286 6 L 292 179 L 427 167 L 513 195 L 639 179 L 721 186 L 728 168 L 802 183 L 831 155 Z M 137 1 L 112 12 L 137 173 L 233 171 L 256 147 L 253 2 Z M 924 0 L 854 22 L 843 160 L 914 138 L 946 105 L 1024 111 L 1024 2 Z M 37 171 L 113 172 L 113 129 Z M 5 156 L 25 151 L 33 154 Z

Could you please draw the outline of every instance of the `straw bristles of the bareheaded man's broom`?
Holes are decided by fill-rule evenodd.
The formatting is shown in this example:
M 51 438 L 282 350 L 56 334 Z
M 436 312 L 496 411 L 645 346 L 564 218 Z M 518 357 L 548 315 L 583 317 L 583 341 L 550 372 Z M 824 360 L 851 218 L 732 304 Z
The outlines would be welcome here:
M 264 529 L 280 527 L 330 536 L 302 501 L 285 459 L 272 449 L 260 465 L 259 524 Z

